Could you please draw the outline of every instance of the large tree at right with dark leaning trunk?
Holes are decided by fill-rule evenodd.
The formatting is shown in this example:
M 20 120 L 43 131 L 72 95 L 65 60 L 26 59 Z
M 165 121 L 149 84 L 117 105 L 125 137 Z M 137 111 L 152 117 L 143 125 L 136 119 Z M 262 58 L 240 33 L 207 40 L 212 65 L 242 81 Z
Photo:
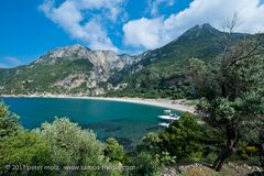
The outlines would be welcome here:
M 212 165 L 216 170 L 220 170 L 233 154 L 242 133 L 251 130 L 242 124 L 264 118 L 263 34 L 245 36 L 234 44 L 232 35 L 237 20 L 234 15 L 228 25 L 226 48 L 220 59 L 206 67 L 193 65 L 205 72 L 189 74 L 193 75 L 191 84 L 204 96 L 197 107 L 198 113 L 226 136 L 226 147 Z

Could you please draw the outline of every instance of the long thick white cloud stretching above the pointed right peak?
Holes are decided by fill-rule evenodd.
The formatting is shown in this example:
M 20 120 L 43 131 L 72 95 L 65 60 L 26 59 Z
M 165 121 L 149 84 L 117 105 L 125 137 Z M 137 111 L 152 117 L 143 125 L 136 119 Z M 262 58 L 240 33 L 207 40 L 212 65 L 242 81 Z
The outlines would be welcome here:
M 264 30 L 264 4 L 260 0 L 194 0 L 189 8 L 167 19 L 139 19 L 123 25 L 123 42 L 128 46 L 155 48 L 162 46 L 196 24 L 210 23 L 221 30 L 224 21 L 238 12 L 238 32 Z

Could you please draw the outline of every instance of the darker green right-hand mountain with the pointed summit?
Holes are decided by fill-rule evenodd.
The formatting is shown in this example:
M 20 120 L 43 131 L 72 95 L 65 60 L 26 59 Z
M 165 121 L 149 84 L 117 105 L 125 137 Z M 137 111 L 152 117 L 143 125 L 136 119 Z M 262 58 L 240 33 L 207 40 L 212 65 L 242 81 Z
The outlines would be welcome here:
M 235 44 L 249 36 L 233 33 L 231 41 Z M 193 57 L 205 62 L 217 59 L 224 50 L 226 38 L 227 33 L 210 24 L 196 25 L 167 45 L 141 54 L 140 62 L 110 77 L 113 85 L 128 85 L 122 91 L 110 95 L 175 99 L 194 97 L 195 92 L 185 77 L 186 62 Z

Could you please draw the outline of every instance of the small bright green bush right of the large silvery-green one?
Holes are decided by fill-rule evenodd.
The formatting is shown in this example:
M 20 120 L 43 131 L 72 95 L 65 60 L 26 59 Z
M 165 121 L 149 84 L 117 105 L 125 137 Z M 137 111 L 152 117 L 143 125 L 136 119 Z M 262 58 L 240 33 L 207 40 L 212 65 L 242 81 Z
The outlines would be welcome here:
M 110 162 L 122 162 L 124 157 L 123 146 L 113 138 L 107 140 L 107 147 L 103 153 L 106 157 L 110 158 Z

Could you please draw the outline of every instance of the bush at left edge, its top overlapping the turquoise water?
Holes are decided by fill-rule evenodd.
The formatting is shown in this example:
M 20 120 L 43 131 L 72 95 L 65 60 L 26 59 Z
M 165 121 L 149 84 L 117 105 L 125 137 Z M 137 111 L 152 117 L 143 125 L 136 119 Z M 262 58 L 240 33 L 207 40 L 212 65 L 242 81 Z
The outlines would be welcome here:
M 0 142 L 14 135 L 20 130 L 19 118 L 9 112 L 8 107 L 0 102 Z

